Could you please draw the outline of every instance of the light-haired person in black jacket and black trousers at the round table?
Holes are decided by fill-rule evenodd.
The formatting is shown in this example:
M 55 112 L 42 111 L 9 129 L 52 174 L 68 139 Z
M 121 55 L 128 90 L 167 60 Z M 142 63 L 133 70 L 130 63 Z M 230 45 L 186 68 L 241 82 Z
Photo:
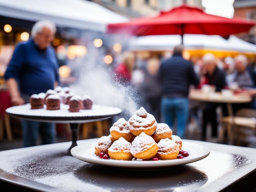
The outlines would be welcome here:
M 207 53 L 203 56 L 202 61 L 204 65 L 204 76 L 199 88 L 204 84 L 208 84 L 215 86 L 217 92 L 221 91 L 221 89 L 226 86 L 225 73 L 217 67 L 216 57 L 211 53 Z M 203 110 L 203 140 L 205 140 L 206 137 L 206 127 L 208 122 L 210 122 L 212 127 L 212 137 L 216 138 L 218 136 L 216 108 L 219 105 L 220 104 L 218 103 L 205 103 L 205 109 Z

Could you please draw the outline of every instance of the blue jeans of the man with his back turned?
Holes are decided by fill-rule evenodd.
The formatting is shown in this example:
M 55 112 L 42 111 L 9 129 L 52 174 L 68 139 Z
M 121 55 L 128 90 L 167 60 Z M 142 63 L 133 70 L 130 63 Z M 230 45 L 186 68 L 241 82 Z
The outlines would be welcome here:
M 184 98 L 162 98 L 161 113 L 165 123 L 173 129 L 174 120 L 177 121 L 177 135 L 184 138 L 189 113 L 189 101 Z

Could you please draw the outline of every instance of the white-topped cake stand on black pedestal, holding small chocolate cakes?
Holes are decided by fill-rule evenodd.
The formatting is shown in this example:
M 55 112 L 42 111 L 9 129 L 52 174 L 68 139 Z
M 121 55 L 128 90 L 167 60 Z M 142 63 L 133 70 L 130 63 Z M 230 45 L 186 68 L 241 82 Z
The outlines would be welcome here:
M 119 115 L 122 110 L 117 107 L 93 105 L 90 110 L 80 110 L 72 113 L 68 111 L 68 105 L 61 104 L 60 110 L 30 109 L 30 104 L 14 106 L 6 109 L 12 117 L 26 119 L 30 121 L 51 122 L 51 123 L 70 123 L 72 144 L 66 155 L 70 155 L 70 150 L 77 146 L 77 130 L 79 123 L 101 121 Z

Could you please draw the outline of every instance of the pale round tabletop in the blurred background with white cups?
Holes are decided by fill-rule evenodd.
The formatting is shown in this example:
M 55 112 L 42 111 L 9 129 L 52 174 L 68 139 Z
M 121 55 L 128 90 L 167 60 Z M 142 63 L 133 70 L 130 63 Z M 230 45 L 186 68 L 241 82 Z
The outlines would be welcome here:
M 189 99 L 214 103 L 249 103 L 252 101 L 252 98 L 247 95 L 233 95 L 231 98 L 225 98 L 220 92 L 205 95 L 201 90 L 195 89 L 189 91 Z

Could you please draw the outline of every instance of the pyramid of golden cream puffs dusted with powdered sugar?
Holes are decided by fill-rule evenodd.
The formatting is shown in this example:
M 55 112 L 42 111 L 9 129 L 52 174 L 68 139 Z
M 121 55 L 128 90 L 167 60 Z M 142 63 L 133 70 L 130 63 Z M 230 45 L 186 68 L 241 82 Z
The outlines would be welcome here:
M 179 158 L 181 147 L 180 137 L 141 107 L 129 121 L 121 118 L 113 124 L 110 135 L 99 139 L 95 154 L 103 159 L 170 160 Z

